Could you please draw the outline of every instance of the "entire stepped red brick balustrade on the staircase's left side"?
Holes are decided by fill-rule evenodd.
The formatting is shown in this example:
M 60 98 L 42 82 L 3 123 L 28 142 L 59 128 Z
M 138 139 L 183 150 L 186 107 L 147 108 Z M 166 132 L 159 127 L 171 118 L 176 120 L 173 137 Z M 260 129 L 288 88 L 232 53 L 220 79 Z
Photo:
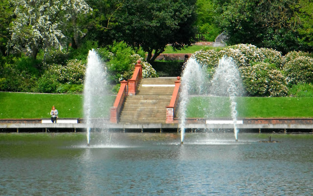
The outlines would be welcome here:
M 140 65 L 140 61 L 138 60 L 137 64 L 135 65 L 135 70 L 132 79 L 128 80 L 128 82 L 126 80 L 121 81 L 121 87 L 119 88 L 119 91 L 115 98 L 115 102 L 110 111 L 111 123 L 117 123 L 125 97 L 127 95 L 134 95 L 136 93 L 136 88 L 141 78 L 142 78 L 142 65 Z

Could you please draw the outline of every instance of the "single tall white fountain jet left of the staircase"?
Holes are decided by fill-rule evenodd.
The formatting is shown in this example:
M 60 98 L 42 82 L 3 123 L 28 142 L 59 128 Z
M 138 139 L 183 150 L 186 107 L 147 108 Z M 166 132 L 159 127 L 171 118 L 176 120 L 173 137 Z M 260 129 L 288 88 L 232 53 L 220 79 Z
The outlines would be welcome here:
M 104 103 L 106 102 L 106 73 L 104 63 L 96 51 L 89 50 L 84 83 L 84 118 L 87 127 L 87 146 L 94 127 L 105 128 Z

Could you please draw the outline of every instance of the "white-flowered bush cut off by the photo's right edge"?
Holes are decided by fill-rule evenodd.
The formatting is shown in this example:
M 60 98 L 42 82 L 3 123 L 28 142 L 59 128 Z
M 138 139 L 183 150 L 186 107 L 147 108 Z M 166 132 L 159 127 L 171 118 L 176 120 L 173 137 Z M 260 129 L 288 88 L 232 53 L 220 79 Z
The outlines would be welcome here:
M 290 86 L 311 83 L 313 82 L 313 58 L 298 56 L 284 65 L 284 72 Z

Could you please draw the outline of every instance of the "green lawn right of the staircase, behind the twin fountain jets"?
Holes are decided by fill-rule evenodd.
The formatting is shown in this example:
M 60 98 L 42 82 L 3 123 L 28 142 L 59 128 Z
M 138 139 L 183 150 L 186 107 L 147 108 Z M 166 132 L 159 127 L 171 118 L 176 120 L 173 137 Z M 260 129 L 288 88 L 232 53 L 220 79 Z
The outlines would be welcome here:
M 192 97 L 187 116 L 229 118 L 229 105 L 227 97 Z M 313 117 L 313 97 L 238 97 L 236 108 L 238 118 L 308 118 Z

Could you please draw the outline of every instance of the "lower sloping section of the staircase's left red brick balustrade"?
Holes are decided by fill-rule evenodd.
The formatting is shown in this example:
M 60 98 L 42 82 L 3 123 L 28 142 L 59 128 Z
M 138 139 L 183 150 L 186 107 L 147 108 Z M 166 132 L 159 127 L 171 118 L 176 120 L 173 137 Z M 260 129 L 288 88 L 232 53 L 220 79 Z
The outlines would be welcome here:
M 121 87 L 118 90 L 113 107 L 110 110 L 111 113 L 110 122 L 112 123 L 117 123 L 119 113 L 122 109 L 125 97 L 127 96 L 127 85 L 128 82 L 126 80 L 121 81 Z

